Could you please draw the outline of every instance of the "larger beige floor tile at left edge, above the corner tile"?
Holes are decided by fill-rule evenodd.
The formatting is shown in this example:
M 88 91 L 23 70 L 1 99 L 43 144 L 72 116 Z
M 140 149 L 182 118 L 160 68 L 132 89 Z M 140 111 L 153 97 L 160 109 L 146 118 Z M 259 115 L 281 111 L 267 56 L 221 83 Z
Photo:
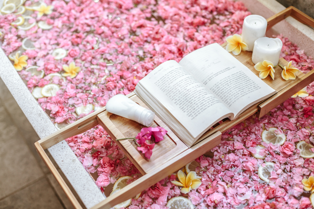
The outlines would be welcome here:
M 1 199 L 43 177 L 44 174 L 18 128 L 1 105 L 0 113 Z

